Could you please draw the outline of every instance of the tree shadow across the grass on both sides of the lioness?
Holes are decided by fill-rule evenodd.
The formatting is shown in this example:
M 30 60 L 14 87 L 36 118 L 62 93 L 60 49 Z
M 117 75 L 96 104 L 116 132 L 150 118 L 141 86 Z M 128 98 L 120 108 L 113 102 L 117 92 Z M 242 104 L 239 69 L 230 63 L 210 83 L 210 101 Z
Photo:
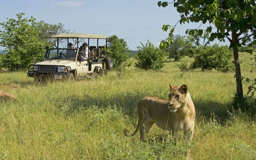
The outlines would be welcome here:
M 114 96 L 108 95 L 98 95 L 90 96 L 84 94 L 82 97 L 78 96 L 68 96 L 64 100 L 57 102 L 57 108 L 62 110 L 66 114 L 72 114 L 73 112 L 78 112 L 80 109 L 88 109 L 92 106 L 98 108 L 113 107 L 118 110 L 122 110 L 124 114 L 134 117 L 136 115 L 137 103 L 140 99 L 148 96 L 146 92 L 129 92 L 125 91 L 122 93 L 117 93 Z M 231 104 L 221 104 L 213 101 L 198 101 L 194 100 L 196 107 L 197 116 L 210 117 L 212 113 L 215 116 L 224 120 L 228 116 L 228 110 L 231 108 Z

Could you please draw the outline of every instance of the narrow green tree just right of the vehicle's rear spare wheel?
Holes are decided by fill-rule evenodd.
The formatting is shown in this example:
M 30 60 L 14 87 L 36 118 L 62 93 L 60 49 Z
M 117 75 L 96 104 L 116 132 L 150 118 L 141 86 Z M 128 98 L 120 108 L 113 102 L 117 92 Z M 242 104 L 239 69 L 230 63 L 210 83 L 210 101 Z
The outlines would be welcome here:
M 114 69 L 118 78 L 122 78 L 128 72 L 128 66 L 131 65 L 131 62 L 128 61 L 131 50 L 128 48 L 127 42 L 116 35 L 109 36 L 107 38 L 107 52 L 114 59 Z

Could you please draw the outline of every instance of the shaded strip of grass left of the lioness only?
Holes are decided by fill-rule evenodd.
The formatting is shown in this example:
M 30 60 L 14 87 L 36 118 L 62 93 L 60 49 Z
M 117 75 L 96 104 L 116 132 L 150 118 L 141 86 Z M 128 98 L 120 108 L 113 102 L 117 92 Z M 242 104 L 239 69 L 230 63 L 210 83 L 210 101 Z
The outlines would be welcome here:
M 112 97 L 108 97 L 108 95 L 98 95 L 95 97 L 88 94 L 84 94 L 82 97 L 68 96 L 64 100 L 57 102 L 57 108 L 61 112 L 72 114 L 80 109 L 89 109 L 92 106 L 98 108 L 111 107 L 122 110 L 129 116 L 134 116 L 138 101 L 145 96 L 146 93 L 144 92 L 133 93 L 128 91 L 115 94 Z

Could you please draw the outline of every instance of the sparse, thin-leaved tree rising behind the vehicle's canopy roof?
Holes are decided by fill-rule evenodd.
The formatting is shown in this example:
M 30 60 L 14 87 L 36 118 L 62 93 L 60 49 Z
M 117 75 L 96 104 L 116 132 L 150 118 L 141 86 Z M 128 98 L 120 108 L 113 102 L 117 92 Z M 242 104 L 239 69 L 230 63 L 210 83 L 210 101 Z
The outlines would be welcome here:
M 55 36 L 57 34 L 61 33 L 70 33 L 70 30 L 67 30 L 64 28 L 64 24 L 58 23 L 58 24 L 48 24 L 44 22 L 43 20 L 40 20 L 39 22 L 33 22 L 32 26 L 38 29 L 38 36 L 42 40 L 46 40 L 48 44 L 51 46 L 54 46 L 57 48 L 57 38 L 47 38 L 48 36 Z M 65 43 L 66 39 L 59 39 L 59 43 Z M 76 45 L 76 41 L 73 41 Z

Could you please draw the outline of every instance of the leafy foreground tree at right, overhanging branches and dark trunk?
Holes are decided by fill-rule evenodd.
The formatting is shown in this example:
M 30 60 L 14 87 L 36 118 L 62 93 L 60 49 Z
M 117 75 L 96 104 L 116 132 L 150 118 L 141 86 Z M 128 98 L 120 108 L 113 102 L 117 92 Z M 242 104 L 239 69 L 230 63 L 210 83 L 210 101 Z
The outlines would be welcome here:
M 242 77 L 238 56 L 238 47 L 246 43 L 256 43 L 256 1 L 255 0 L 174 0 L 174 2 L 158 2 L 158 6 L 166 7 L 173 4 L 180 13 L 180 24 L 186 22 L 209 23 L 206 31 L 210 34 L 210 41 L 218 39 L 225 41 L 228 39 L 230 48 L 233 50 L 236 92 L 243 100 Z M 178 22 L 177 22 L 178 23 Z M 200 25 L 201 26 L 201 25 Z M 199 28 L 200 28 L 199 26 Z M 164 31 L 170 30 L 170 35 L 174 32 L 176 25 L 163 25 Z M 188 29 L 186 34 L 203 34 L 202 29 Z M 212 30 L 214 28 L 214 30 Z M 231 35 L 230 35 L 231 34 Z M 166 44 L 173 41 L 168 39 L 160 44 L 165 48 Z

